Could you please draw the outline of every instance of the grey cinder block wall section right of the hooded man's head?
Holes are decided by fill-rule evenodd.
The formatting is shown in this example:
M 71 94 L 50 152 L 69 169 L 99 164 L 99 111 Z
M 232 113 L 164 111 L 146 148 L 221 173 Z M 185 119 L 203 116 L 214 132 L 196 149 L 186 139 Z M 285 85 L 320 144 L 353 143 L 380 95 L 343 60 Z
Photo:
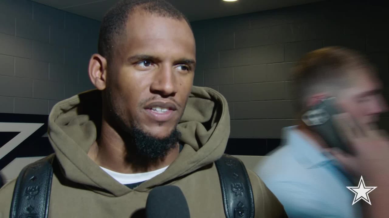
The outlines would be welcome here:
M 388 82 L 388 9 L 339 2 L 193 22 L 194 84 L 226 97 L 232 138 L 279 138 L 282 127 L 295 124 L 291 67 L 311 50 L 331 45 L 360 50 Z M 384 117 L 382 125 L 388 123 Z

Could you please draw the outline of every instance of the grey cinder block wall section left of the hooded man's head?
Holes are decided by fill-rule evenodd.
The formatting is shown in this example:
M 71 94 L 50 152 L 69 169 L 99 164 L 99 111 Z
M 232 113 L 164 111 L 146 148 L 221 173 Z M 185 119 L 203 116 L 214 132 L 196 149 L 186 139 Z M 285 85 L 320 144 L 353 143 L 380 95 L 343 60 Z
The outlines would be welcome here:
M 48 114 L 92 88 L 100 22 L 28 0 L 0 0 L 0 113 Z

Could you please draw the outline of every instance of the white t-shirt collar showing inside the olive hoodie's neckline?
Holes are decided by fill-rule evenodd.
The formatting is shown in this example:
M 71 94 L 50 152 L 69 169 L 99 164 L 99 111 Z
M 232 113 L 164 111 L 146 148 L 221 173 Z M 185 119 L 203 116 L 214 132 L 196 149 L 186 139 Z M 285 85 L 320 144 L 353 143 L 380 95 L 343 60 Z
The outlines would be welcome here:
M 163 171 L 165 171 L 166 168 L 168 168 L 168 166 L 161 168 L 161 169 L 158 169 L 158 170 L 146 172 L 146 173 L 131 173 L 131 174 L 118 173 L 118 172 L 103 168 L 102 166 L 100 166 L 100 168 L 102 168 L 106 173 L 108 173 L 108 175 L 112 176 L 112 178 L 114 178 L 117 182 L 125 185 L 125 184 L 133 184 L 133 183 L 144 182 L 146 180 L 149 180 L 149 179 L 163 173 Z

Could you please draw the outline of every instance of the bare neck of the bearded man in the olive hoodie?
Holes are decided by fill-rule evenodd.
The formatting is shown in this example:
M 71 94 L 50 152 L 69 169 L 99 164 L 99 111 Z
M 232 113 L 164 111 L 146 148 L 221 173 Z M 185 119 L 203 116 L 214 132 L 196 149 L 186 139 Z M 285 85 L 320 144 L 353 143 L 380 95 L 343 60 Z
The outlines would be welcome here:
M 147 163 L 128 154 L 123 138 L 106 122 L 102 122 L 100 138 L 89 149 L 88 156 L 96 164 L 118 173 L 145 173 L 169 166 L 179 154 L 179 144 L 170 150 L 163 159 Z M 131 145 L 130 145 L 131 146 Z M 131 157 L 131 158 L 129 158 Z

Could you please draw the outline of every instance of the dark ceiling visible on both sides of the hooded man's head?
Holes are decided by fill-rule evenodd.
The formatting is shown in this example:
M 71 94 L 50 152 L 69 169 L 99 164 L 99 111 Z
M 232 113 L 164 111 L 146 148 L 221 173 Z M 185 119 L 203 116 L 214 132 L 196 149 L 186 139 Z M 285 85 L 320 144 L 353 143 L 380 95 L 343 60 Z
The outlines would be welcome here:
M 57 9 L 65 10 L 98 21 L 105 12 L 119 0 L 33 0 Z M 251 12 L 277 9 L 321 0 L 168 0 L 183 12 L 190 21 L 225 17 Z

